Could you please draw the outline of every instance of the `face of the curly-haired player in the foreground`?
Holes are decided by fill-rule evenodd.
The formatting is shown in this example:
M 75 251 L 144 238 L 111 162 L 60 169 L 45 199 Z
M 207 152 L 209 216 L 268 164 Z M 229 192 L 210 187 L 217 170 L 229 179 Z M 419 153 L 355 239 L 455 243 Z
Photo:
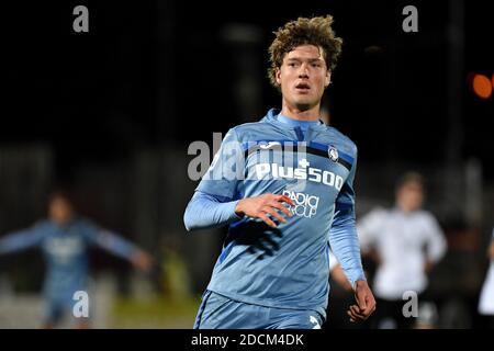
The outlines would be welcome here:
M 323 48 L 315 45 L 300 45 L 284 55 L 277 82 L 290 107 L 306 111 L 319 104 L 330 82 L 323 54 Z

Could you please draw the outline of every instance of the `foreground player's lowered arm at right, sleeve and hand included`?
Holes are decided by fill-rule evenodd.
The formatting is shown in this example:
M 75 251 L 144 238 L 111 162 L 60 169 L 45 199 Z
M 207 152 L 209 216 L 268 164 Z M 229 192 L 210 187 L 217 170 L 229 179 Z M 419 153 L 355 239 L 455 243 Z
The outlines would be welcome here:
M 362 321 L 375 310 L 375 299 L 363 273 L 356 229 L 353 191 L 356 168 L 357 151 L 355 152 L 350 173 L 341 186 L 335 203 L 329 245 L 353 287 L 357 305 L 350 306 L 347 314 L 350 316 L 351 321 Z

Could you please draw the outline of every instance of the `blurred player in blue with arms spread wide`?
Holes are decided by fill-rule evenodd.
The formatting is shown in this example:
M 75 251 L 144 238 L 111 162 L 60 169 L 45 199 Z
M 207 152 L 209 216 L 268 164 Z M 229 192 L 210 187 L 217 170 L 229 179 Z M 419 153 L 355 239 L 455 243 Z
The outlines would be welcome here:
M 122 237 L 78 216 L 64 192 L 55 192 L 48 201 L 48 217 L 31 228 L 0 238 L 0 254 L 40 247 L 47 263 L 44 280 L 43 328 L 54 328 L 70 312 L 77 291 L 88 292 L 88 248 L 96 245 L 147 271 L 151 259 Z M 91 303 L 91 299 L 89 301 Z M 78 317 L 78 316 L 75 316 Z M 78 317 L 77 328 L 88 328 L 90 316 Z

